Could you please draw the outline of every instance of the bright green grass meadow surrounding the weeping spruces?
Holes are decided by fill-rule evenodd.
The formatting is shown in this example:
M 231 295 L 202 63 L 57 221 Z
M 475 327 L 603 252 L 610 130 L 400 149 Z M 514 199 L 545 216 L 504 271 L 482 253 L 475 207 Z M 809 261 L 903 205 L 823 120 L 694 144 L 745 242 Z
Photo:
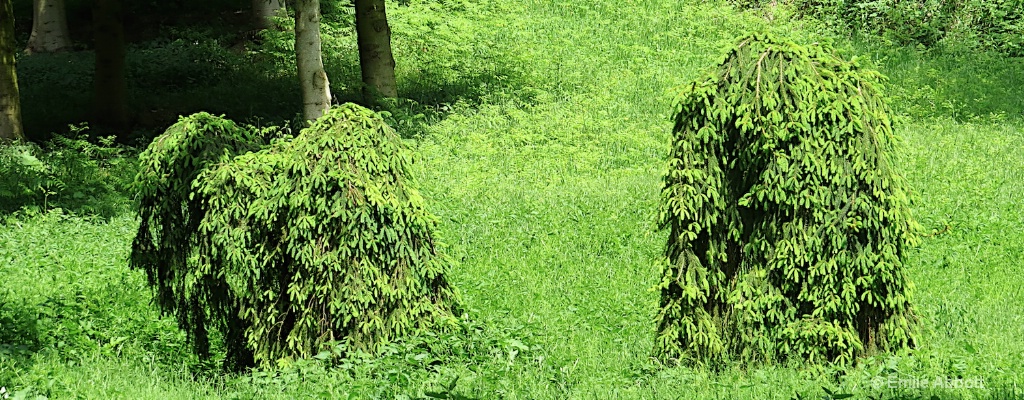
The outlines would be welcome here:
M 660 368 L 649 358 L 658 300 L 650 287 L 665 240 L 654 214 L 673 88 L 698 77 L 744 28 L 766 23 L 669 0 L 459 10 L 433 35 L 473 43 L 435 52 L 482 60 L 416 53 L 398 29 L 395 46 L 407 77 L 435 74 L 455 87 L 467 76 L 500 75 L 480 81 L 490 86 L 476 103 L 450 104 L 446 118 L 410 140 L 440 238 L 458 261 L 452 279 L 482 326 L 470 339 L 485 345 L 478 354 L 425 366 L 418 352 L 396 352 L 330 370 L 301 364 L 225 376 L 189 355 L 174 323 L 150 305 L 144 276 L 127 270 L 130 216 L 100 222 L 51 213 L 0 226 L 0 318 L 37 315 L 34 327 L 20 323 L 11 336 L 40 341 L 0 359 L 0 386 L 58 399 L 408 399 L 458 377 L 454 393 L 464 397 L 451 398 L 788 399 L 820 398 L 822 387 L 858 398 L 1024 396 L 1024 132 L 1013 119 L 918 118 L 898 127 L 915 216 L 939 232 L 907 260 L 924 328 L 918 350 L 846 369 Z M 419 27 L 416 18 L 430 12 L 442 11 L 414 2 L 393 18 Z M 895 56 L 850 47 L 888 69 L 897 90 L 920 84 L 906 62 L 890 62 Z M 430 70 L 432 62 L 447 70 Z M 991 68 L 984 62 L 993 61 L 948 70 Z M 988 389 L 871 388 L 885 376 L 978 377 Z

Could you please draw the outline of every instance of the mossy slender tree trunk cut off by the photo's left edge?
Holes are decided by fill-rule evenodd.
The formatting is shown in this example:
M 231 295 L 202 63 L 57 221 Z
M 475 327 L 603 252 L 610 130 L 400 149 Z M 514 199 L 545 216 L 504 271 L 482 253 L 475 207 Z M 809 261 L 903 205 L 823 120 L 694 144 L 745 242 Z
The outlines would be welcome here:
M 14 46 L 14 9 L 11 0 L 0 0 L 0 142 L 25 139 Z

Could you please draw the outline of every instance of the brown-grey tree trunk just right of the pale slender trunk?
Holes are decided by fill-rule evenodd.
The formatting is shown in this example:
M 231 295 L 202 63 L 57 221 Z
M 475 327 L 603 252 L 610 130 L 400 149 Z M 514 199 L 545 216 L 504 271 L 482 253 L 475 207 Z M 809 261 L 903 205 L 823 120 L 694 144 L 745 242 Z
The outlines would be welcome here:
M 384 0 L 355 0 L 355 33 L 362 71 L 362 99 L 369 104 L 382 97 L 397 97 L 391 28 Z

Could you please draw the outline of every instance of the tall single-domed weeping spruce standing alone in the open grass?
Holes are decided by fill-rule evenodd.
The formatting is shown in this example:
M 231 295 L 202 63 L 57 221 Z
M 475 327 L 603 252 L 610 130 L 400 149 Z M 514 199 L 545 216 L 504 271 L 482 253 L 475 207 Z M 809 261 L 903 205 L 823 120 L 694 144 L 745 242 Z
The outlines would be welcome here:
M 678 98 L 655 354 L 846 363 L 914 345 L 915 242 L 881 76 L 818 45 L 738 41 Z

